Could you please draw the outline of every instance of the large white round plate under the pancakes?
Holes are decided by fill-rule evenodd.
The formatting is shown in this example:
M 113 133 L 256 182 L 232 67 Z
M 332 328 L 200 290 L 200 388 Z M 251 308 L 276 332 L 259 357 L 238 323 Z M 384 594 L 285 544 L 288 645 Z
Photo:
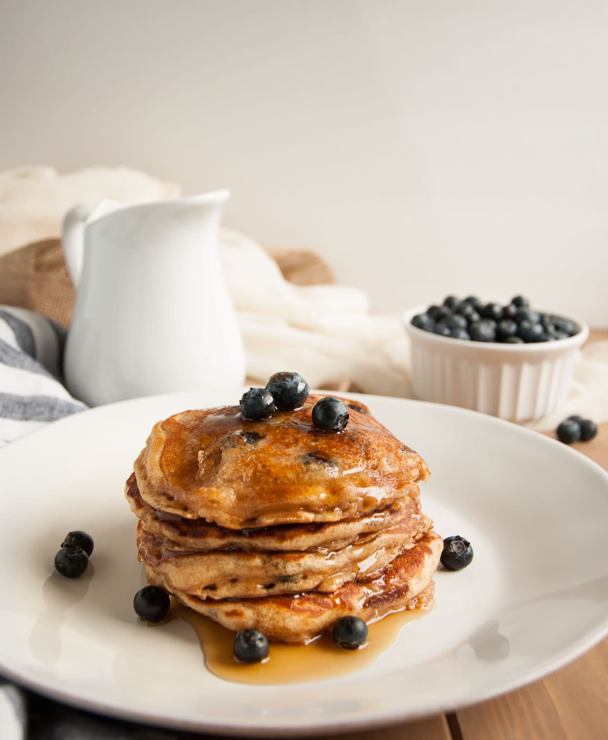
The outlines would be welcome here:
M 356 397 L 355 394 L 351 394 Z M 369 667 L 252 686 L 208 673 L 193 630 L 146 629 L 124 481 L 157 420 L 233 394 L 144 398 L 85 411 L 0 451 L 0 670 L 102 713 L 271 736 L 377 726 L 480 702 L 543 676 L 608 631 L 608 474 L 561 443 L 473 411 L 360 397 L 427 460 L 423 509 L 475 558 L 435 576 L 435 609 Z M 53 572 L 64 534 L 89 531 L 93 567 Z

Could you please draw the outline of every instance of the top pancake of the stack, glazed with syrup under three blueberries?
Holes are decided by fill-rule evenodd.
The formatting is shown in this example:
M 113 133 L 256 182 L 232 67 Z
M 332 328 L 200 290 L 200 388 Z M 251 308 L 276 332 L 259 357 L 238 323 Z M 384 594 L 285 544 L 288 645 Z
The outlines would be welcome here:
M 418 497 L 422 458 L 344 399 L 347 428 L 320 431 L 310 395 L 296 411 L 248 422 L 238 406 L 184 411 L 158 422 L 134 469 L 153 508 L 229 529 L 360 517 Z

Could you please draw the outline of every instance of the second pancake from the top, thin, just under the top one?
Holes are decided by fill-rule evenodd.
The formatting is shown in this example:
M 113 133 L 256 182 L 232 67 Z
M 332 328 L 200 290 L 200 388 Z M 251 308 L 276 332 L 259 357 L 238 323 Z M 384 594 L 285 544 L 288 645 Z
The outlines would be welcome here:
M 124 495 L 133 514 L 141 519 L 151 534 L 171 540 L 181 548 L 204 552 L 338 550 L 350 545 L 361 534 L 373 534 L 399 522 L 409 521 L 412 528 L 417 528 L 421 517 L 424 517 L 420 511 L 420 499 L 415 498 L 393 502 L 360 519 L 238 530 L 218 527 L 204 519 L 184 519 L 176 514 L 156 511 L 141 498 L 135 474 L 127 480 Z

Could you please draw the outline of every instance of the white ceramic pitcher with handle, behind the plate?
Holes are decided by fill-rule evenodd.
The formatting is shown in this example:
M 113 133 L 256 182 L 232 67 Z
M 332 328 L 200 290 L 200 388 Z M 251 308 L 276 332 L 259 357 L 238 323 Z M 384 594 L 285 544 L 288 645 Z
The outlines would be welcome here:
M 124 206 L 81 205 L 62 244 L 78 291 L 67 387 L 101 403 L 240 386 L 245 357 L 218 247 L 227 190 Z

